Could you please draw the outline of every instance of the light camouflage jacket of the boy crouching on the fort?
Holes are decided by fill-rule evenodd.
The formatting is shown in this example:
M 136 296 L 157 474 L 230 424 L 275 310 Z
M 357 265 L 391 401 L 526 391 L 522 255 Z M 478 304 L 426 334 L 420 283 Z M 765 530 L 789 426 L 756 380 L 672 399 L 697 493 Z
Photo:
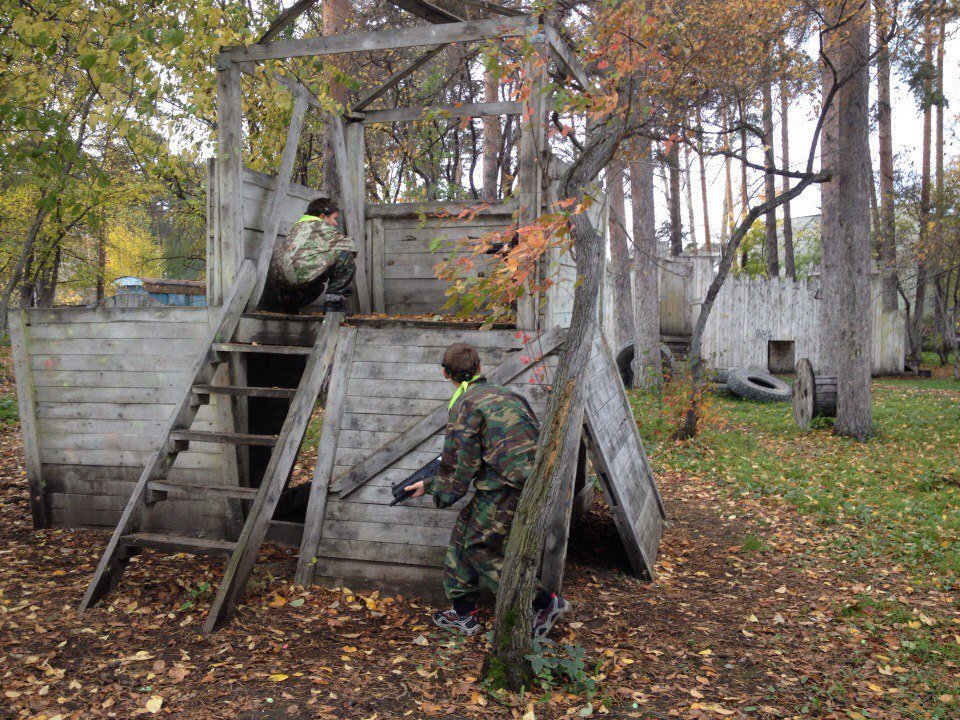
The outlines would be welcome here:
M 326 272 L 344 250 L 357 254 L 351 238 L 323 218 L 304 215 L 274 248 L 272 274 L 291 287 L 309 285 Z

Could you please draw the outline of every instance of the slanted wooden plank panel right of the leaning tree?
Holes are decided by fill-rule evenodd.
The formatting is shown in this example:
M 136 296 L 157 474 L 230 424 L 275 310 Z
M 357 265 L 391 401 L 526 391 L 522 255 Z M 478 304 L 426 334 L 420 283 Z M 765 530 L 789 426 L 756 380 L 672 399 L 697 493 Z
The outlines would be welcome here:
M 652 579 L 664 511 L 620 373 L 603 336 L 594 340 L 584 421 L 607 502 L 637 575 Z

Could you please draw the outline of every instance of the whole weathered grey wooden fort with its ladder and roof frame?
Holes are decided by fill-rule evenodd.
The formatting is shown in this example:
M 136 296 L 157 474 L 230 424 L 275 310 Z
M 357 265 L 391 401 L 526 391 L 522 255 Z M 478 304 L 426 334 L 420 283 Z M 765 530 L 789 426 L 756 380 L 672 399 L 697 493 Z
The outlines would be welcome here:
M 438 369 L 443 348 L 469 341 L 493 381 L 523 394 L 542 420 L 569 324 L 569 269 L 544 297 L 518 303 L 516 324 L 477 325 L 371 318 L 437 312 L 445 285 L 430 244 L 536 219 L 558 167 L 545 142 L 548 73 L 590 82 L 563 35 L 543 18 L 484 3 L 491 16 L 465 21 L 421 0 L 396 4 L 417 27 L 276 40 L 309 7 L 284 12 L 260 42 L 223 52 L 218 68 L 218 151 L 208 203 L 209 308 L 14 310 L 11 338 L 34 523 L 112 528 L 86 608 L 108 594 L 137 553 L 212 553 L 227 566 L 205 625 L 240 600 L 261 544 L 300 548 L 296 581 L 438 587 L 442 556 L 460 507 L 429 498 L 390 507 L 391 482 L 436 456 L 451 388 Z M 492 10 L 491 10 L 492 9 Z M 450 43 L 528 37 L 527 99 L 446 108 L 454 117 L 523 117 L 518 192 L 469 219 L 449 203 L 365 201 L 364 127 L 416 120 L 425 108 L 373 109 L 377 98 Z M 294 98 L 276 175 L 243 162 L 241 74 L 262 60 L 426 46 L 424 56 L 332 116 L 338 198 L 358 240 L 360 315 L 278 315 L 258 309 L 278 238 L 319 195 L 292 182 L 305 113 L 319 108 L 292 77 Z M 599 208 L 600 206 L 596 206 Z M 599 211 L 598 211 L 599 212 Z M 603 218 L 594 217 L 598 227 Z M 562 263 L 561 263 L 562 264 Z M 567 260 L 567 265 L 572 263 Z M 656 482 L 616 365 L 598 333 L 584 376 L 580 460 L 548 538 L 545 583 L 559 588 L 571 515 L 589 502 L 592 461 L 635 572 L 652 576 L 664 517 Z M 289 487 L 318 402 L 324 418 L 312 483 Z

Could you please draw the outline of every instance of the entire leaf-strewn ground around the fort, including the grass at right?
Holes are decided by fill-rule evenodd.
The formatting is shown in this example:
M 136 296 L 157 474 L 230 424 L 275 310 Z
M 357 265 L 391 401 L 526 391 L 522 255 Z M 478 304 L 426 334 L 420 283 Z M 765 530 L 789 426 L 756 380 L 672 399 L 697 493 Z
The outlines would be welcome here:
M 212 637 L 199 630 L 221 566 L 189 556 L 145 553 L 79 615 L 106 535 L 32 529 L 8 424 L 0 717 L 956 718 L 960 389 L 874 389 L 868 445 L 726 399 L 678 444 L 667 406 L 635 397 L 670 522 L 653 584 L 626 572 L 605 508 L 575 531 L 575 614 L 556 639 L 585 651 L 592 697 L 490 693 L 482 637 L 435 632 L 409 598 L 292 588 L 278 548 Z

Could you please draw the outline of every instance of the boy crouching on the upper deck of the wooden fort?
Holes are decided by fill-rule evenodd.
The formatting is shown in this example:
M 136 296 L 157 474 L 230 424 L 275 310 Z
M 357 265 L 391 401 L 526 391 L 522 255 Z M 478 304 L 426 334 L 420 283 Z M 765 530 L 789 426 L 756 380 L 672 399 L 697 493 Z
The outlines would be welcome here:
M 357 246 L 337 230 L 339 209 L 318 198 L 274 248 L 263 306 L 296 312 L 323 292 L 324 312 L 344 312 L 357 272 Z

